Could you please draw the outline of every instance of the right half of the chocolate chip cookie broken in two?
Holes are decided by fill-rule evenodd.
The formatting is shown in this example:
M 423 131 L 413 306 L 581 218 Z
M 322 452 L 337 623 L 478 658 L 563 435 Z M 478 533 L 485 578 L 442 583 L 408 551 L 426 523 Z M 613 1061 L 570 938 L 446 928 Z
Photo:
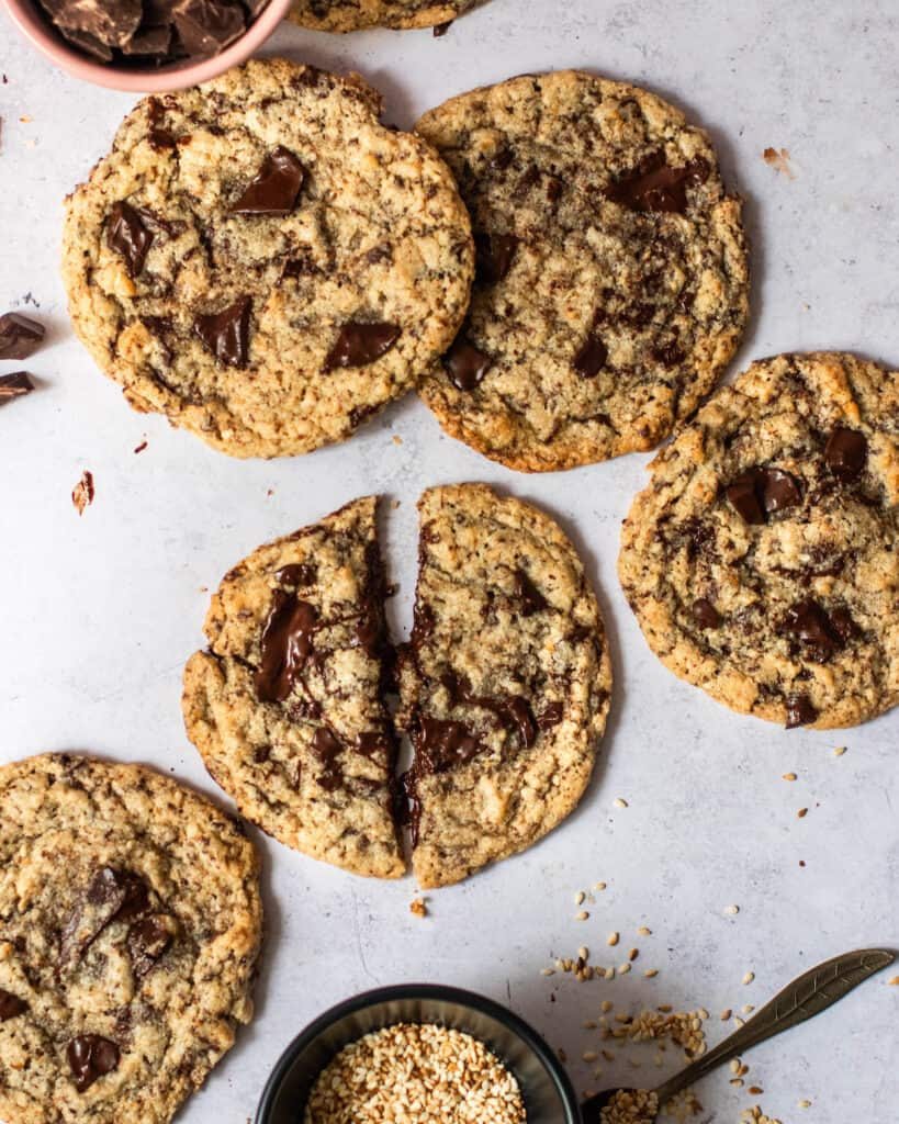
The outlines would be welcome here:
M 420 571 L 398 723 L 412 865 L 445 886 L 530 846 L 593 769 L 611 665 L 573 546 L 543 511 L 483 484 L 419 502 Z

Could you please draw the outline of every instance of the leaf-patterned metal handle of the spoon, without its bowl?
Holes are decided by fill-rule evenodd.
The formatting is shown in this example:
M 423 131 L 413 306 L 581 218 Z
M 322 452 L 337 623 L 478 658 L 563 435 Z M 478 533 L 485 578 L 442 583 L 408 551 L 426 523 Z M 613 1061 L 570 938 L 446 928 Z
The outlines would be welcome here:
M 659 1088 L 659 1104 L 664 1104 L 712 1069 L 745 1053 L 751 1046 L 826 1010 L 895 959 L 895 954 L 886 949 L 863 949 L 834 957 L 810 969 L 788 984 L 738 1031 Z

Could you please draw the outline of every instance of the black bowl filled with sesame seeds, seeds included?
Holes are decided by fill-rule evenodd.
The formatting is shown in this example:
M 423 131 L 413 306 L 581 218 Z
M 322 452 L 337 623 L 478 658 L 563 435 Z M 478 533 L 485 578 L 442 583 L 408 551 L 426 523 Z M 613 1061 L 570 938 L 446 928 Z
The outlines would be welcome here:
M 379 988 L 333 1007 L 282 1054 L 255 1124 L 581 1124 L 543 1039 L 483 996 Z

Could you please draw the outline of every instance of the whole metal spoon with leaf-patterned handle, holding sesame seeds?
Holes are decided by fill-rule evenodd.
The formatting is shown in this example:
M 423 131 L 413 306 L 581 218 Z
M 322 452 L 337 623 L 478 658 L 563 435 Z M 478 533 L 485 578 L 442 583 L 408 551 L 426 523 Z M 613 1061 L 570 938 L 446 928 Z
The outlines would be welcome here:
M 612 1088 L 591 1097 L 582 1108 L 584 1124 L 652 1124 L 666 1102 L 711 1070 L 826 1010 L 895 959 L 886 949 L 864 949 L 826 960 L 788 984 L 734 1034 L 657 1089 Z

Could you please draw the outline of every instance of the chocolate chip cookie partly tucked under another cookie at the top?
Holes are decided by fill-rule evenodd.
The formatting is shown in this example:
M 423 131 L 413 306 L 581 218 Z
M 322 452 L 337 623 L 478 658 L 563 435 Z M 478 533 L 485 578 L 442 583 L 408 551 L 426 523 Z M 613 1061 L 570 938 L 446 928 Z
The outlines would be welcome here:
M 747 315 L 741 201 L 706 134 L 637 87 L 566 71 L 454 98 L 416 126 L 472 216 L 469 319 L 420 393 L 509 468 L 652 448 Z

